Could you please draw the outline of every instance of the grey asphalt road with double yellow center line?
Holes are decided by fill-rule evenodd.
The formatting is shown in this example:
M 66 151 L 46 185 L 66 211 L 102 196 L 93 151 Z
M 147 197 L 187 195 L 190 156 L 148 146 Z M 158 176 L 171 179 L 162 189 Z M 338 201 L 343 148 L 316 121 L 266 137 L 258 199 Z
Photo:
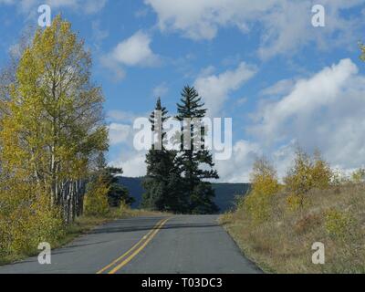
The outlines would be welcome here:
M 215 215 L 117 220 L 52 251 L 51 265 L 31 257 L 0 266 L 0 274 L 260 273 L 216 220 Z

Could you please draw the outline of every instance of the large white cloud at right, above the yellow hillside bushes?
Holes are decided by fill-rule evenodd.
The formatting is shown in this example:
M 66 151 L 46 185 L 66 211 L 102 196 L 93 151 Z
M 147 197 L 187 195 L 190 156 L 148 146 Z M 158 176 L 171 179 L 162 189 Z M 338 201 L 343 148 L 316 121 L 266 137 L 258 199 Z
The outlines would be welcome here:
M 364 92 L 365 77 L 350 59 L 342 59 L 263 104 L 248 130 L 266 149 L 286 149 L 297 141 L 308 151 L 318 147 L 333 166 L 360 167 L 365 163 Z

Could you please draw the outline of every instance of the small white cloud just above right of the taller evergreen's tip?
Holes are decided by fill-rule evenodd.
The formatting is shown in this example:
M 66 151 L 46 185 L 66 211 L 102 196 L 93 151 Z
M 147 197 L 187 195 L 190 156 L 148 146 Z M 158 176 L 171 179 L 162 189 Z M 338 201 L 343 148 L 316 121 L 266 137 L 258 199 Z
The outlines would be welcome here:
M 245 62 L 239 64 L 235 70 L 227 70 L 219 75 L 206 76 L 208 72 L 212 72 L 212 68 L 208 71 L 203 70 L 203 75 L 195 80 L 194 85 L 203 97 L 209 114 L 211 116 L 219 114 L 228 95 L 252 78 L 256 71 L 257 68 L 247 65 Z

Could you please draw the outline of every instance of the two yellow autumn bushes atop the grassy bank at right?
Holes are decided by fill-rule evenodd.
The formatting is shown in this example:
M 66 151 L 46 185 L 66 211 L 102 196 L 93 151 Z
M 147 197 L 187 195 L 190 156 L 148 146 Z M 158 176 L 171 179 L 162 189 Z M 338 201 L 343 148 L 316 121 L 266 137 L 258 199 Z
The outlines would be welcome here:
M 333 172 L 316 151 L 313 157 L 297 149 L 293 166 L 287 170 L 283 183 L 279 183 L 275 168 L 265 158 L 257 159 L 251 173 L 252 188 L 244 199 L 244 207 L 256 223 L 270 217 L 271 205 L 280 191 L 287 194 L 287 209 L 296 211 L 310 203 L 308 192 L 328 189 Z

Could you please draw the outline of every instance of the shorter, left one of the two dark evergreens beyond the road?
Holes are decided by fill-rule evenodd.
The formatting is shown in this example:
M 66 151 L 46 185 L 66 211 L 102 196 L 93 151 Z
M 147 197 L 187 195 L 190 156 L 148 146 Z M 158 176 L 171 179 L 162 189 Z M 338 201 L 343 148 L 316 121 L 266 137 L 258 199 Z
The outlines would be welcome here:
M 146 193 L 142 206 L 152 210 L 182 212 L 181 190 L 176 186 L 181 181 L 179 168 L 175 165 L 176 151 L 168 151 L 163 146 L 166 132 L 163 123 L 169 119 L 168 111 L 157 100 L 151 113 L 151 130 L 155 141 L 146 155 L 147 176 L 143 181 Z

